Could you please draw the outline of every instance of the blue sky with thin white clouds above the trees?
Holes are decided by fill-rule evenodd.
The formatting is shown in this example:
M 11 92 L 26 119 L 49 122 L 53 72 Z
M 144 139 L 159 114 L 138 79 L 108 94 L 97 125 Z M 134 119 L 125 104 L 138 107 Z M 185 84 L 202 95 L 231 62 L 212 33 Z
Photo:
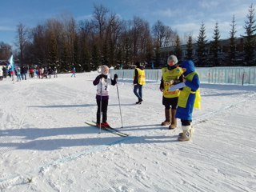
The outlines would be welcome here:
M 160 20 L 177 31 L 181 38 L 191 33 L 196 39 L 202 22 L 206 25 L 209 40 L 212 39 L 216 22 L 221 38 L 229 38 L 234 15 L 238 37 L 245 33 L 243 26 L 251 3 L 252 0 L 2 0 L 0 42 L 14 45 L 19 22 L 34 27 L 61 14 L 71 14 L 77 22 L 90 18 L 94 4 L 106 6 L 125 20 L 134 16 L 143 18 L 150 22 L 150 27 Z

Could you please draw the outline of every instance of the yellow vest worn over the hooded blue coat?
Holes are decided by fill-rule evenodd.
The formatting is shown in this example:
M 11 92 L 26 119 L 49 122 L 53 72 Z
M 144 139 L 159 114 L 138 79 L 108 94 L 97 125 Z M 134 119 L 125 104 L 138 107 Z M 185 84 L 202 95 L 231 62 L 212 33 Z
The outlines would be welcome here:
M 186 81 L 192 82 L 192 79 L 194 78 L 194 74 L 197 74 L 196 72 L 192 72 L 188 75 L 186 75 Z M 200 95 L 200 89 L 196 91 L 191 91 L 191 88 L 188 86 L 183 87 L 183 90 L 180 92 L 178 97 L 178 106 L 182 108 L 186 108 L 186 102 L 190 96 L 190 94 L 195 94 L 195 101 L 194 101 L 194 108 L 201 109 L 201 95 Z

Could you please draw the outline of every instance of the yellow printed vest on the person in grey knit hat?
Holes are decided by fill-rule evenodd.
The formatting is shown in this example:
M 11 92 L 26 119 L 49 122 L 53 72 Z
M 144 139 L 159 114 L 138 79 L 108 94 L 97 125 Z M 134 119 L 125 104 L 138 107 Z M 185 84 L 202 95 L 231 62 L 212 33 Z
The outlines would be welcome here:
M 162 68 L 162 79 L 163 79 L 163 91 L 162 95 L 165 98 L 177 98 L 179 95 L 179 90 L 171 91 L 169 90 L 170 86 L 173 86 L 173 84 L 170 84 L 171 80 L 177 80 L 180 78 L 180 76 L 183 74 L 182 68 L 177 67 L 173 70 L 168 70 L 167 67 Z

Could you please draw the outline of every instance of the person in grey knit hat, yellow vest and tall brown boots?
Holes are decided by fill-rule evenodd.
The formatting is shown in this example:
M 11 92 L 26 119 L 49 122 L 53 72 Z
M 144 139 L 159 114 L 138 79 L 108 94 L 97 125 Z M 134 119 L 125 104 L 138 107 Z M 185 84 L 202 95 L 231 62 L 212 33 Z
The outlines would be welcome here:
M 162 126 L 169 126 L 170 130 L 177 127 L 175 118 L 179 90 L 170 91 L 170 86 L 182 82 L 182 68 L 178 67 L 178 59 L 175 55 L 170 55 L 167 59 L 167 66 L 162 68 L 162 79 L 160 90 L 162 91 L 162 105 L 165 106 L 166 120 L 162 122 Z M 171 110 L 170 110 L 171 106 Z

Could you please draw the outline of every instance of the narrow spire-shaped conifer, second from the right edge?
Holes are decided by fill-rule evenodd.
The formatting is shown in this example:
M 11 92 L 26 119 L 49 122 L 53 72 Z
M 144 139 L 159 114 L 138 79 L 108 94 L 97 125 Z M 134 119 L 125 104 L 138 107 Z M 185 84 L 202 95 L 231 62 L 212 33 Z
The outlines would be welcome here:
M 235 30 L 235 19 L 234 19 L 234 15 L 233 15 L 233 19 L 232 19 L 232 23 L 230 24 L 231 26 L 231 30 L 230 30 L 230 50 L 229 50 L 229 60 L 230 60 L 230 64 L 231 65 L 236 65 L 235 64 L 235 59 L 236 59 L 236 55 L 235 55 L 235 34 L 236 34 L 236 30 Z

